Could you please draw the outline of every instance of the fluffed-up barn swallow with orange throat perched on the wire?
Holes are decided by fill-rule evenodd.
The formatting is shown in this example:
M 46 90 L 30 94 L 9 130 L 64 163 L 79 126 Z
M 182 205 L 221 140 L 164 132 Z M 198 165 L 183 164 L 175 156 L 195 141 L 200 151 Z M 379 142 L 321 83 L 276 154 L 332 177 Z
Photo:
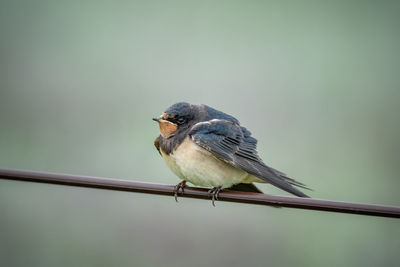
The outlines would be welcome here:
M 207 105 L 179 102 L 153 120 L 160 127 L 154 145 L 183 180 L 175 186 L 175 200 L 184 192 L 186 182 L 212 187 L 213 205 L 222 189 L 261 192 L 254 182 L 308 197 L 294 187 L 309 189 L 304 184 L 263 163 L 256 150 L 257 140 L 231 115 Z

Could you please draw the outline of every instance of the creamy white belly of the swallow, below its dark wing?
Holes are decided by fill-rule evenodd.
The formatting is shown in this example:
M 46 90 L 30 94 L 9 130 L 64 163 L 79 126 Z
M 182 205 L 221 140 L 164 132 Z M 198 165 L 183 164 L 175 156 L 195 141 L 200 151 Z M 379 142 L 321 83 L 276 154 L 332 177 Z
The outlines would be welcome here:
M 217 159 L 189 138 L 186 138 L 170 155 L 166 155 L 163 151 L 161 154 L 168 167 L 177 176 L 194 185 L 228 188 L 235 184 L 251 183 L 255 179 L 260 180 Z

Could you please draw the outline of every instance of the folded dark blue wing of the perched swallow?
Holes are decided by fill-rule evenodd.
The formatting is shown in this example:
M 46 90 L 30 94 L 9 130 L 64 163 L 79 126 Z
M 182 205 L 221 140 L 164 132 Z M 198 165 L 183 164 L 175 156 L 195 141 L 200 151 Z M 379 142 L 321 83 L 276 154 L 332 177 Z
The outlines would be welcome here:
M 257 140 L 244 127 L 227 120 L 213 119 L 195 124 L 189 132 L 192 140 L 217 158 L 242 169 L 282 190 L 308 197 L 294 185 L 302 185 L 265 165 L 257 154 Z M 291 182 L 292 180 L 292 182 Z

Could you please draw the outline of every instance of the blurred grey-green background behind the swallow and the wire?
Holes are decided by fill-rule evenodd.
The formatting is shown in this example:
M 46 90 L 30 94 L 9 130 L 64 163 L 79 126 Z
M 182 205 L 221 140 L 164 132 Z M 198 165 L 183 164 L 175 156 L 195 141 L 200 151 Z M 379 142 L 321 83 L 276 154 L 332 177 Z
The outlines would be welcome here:
M 0 167 L 176 184 L 151 118 L 188 101 L 237 117 L 312 197 L 400 205 L 399 12 L 1 1 Z M 399 252 L 395 219 L 0 181 L 1 266 L 398 266 Z

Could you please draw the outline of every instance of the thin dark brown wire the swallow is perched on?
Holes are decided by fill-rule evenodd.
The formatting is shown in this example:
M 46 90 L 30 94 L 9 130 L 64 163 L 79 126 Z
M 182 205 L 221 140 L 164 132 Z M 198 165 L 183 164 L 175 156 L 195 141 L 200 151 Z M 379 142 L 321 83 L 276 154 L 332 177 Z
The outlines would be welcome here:
M 174 186 L 60 173 L 1 169 L 0 179 L 174 196 Z M 185 187 L 181 197 L 210 199 L 208 190 Z M 221 201 L 400 218 L 400 207 L 222 190 Z M 172 203 L 172 202 L 171 202 Z

